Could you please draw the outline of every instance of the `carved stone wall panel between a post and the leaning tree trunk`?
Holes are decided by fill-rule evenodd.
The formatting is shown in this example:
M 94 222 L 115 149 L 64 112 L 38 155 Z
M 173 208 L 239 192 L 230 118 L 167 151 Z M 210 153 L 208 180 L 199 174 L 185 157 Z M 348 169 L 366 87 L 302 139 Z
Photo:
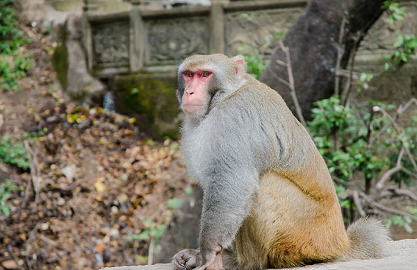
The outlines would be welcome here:
M 302 8 L 231 12 L 226 16 L 225 47 L 228 56 L 265 54 L 269 58 L 278 47 L 279 39 L 270 40 L 279 29 L 284 34 L 293 26 Z

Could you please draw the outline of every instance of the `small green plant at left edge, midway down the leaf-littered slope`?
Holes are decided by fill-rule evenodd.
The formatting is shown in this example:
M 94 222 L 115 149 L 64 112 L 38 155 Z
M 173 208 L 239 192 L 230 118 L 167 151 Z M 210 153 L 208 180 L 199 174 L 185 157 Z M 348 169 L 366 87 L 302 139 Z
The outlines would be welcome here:
M 0 138 L 0 160 L 22 169 L 31 167 L 30 157 L 23 144 L 11 136 Z

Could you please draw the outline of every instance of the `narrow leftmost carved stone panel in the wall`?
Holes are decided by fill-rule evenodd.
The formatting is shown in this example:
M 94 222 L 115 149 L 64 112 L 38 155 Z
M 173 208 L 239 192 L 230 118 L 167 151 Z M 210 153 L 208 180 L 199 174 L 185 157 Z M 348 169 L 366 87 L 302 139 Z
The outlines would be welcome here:
M 92 47 L 95 66 L 129 66 L 129 22 L 92 25 Z

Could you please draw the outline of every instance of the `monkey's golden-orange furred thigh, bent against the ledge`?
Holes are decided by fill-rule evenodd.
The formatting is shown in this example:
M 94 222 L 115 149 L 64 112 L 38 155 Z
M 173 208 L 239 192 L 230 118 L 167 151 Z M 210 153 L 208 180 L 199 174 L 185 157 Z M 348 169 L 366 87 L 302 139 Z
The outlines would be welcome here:
M 273 172 L 265 174 L 260 185 L 252 215 L 243 223 L 234 244 L 242 269 L 326 262 L 347 248 L 337 199 L 315 201 Z

